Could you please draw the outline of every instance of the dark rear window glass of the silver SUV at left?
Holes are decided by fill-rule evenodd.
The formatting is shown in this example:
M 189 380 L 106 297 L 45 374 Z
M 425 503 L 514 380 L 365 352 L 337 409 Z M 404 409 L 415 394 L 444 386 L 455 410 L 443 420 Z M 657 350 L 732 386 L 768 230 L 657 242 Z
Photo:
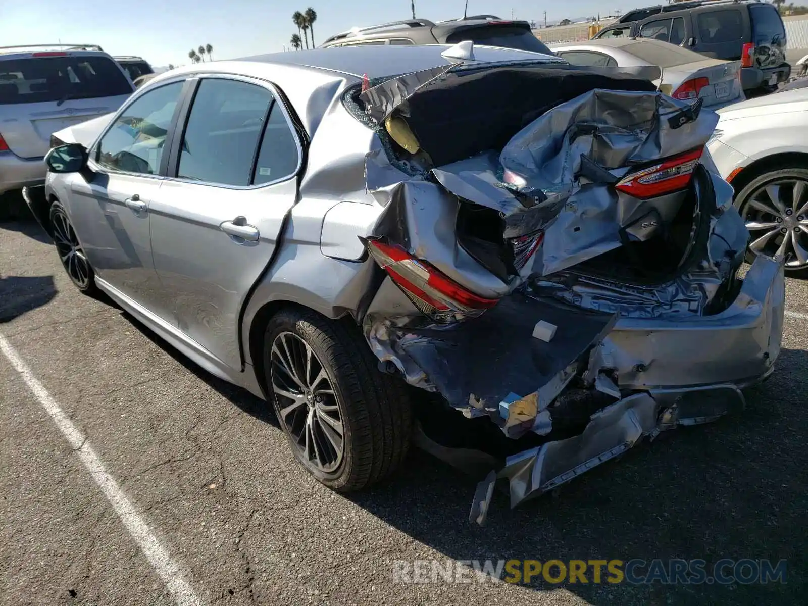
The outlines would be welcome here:
M 131 93 L 132 85 L 108 57 L 0 60 L 0 104 L 95 99 Z

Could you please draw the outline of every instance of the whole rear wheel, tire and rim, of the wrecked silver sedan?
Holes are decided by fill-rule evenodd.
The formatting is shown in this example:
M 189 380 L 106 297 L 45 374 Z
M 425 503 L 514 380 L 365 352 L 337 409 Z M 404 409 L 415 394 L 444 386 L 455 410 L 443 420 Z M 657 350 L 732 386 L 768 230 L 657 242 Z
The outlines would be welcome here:
M 267 324 L 263 364 L 292 452 L 332 490 L 379 482 L 406 457 L 412 419 L 405 385 L 378 370 L 355 326 L 283 309 Z

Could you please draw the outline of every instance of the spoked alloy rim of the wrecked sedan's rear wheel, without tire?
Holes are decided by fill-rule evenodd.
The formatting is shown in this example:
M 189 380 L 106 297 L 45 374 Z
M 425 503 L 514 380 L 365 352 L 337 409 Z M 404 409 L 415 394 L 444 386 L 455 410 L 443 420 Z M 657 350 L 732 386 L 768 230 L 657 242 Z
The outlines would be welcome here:
M 345 450 L 343 414 L 326 368 L 301 337 L 282 332 L 272 343 L 270 371 L 278 418 L 298 454 L 335 473 Z

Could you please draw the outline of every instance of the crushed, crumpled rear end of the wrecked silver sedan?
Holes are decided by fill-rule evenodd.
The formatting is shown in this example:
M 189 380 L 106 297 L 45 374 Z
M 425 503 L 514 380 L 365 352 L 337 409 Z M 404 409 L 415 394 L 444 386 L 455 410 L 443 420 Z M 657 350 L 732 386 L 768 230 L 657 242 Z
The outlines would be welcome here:
M 375 84 L 346 99 L 381 141 L 364 331 L 381 368 L 438 396 L 421 443 L 490 469 L 471 519 L 498 478 L 515 506 L 743 408 L 740 389 L 772 372 L 782 259 L 737 276 L 748 233 L 701 103 L 552 65 Z M 458 419 L 477 439 L 456 439 Z

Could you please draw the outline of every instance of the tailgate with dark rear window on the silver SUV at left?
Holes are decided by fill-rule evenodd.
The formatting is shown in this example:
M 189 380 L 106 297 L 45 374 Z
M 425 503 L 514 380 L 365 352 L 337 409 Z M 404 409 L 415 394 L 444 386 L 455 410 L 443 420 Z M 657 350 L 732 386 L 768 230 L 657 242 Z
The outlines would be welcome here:
M 51 134 L 115 112 L 132 91 L 124 72 L 105 55 L 0 58 L 0 134 L 19 158 L 42 158 Z

